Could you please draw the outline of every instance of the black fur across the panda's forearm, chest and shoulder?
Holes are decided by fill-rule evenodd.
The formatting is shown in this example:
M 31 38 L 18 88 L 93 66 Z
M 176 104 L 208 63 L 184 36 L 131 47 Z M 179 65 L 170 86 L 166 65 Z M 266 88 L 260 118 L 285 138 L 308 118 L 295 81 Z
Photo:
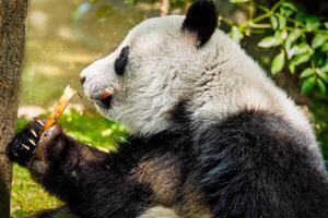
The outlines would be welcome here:
M 178 160 L 176 171 L 181 173 L 167 207 L 190 206 L 192 191 L 220 218 L 328 217 L 327 175 L 314 167 L 308 138 L 265 112 L 242 112 L 190 129 L 186 106 L 181 101 L 172 111 L 173 131 L 131 136 L 116 154 L 60 133 L 47 143 L 49 168 L 36 178 L 79 217 L 136 218 L 164 203 L 148 182 L 130 175 L 144 160 L 171 157 Z M 19 137 L 13 142 L 21 142 Z M 186 192 L 186 185 L 194 190 Z

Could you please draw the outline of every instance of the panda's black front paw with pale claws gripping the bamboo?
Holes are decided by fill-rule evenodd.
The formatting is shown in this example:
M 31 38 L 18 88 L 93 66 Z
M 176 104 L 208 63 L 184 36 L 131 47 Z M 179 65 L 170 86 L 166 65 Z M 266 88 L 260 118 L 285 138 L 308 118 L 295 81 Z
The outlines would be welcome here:
M 7 155 L 12 161 L 22 166 L 28 164 L 38 144 L 43 125 L 43 121 L 34 120 L 14 136 L 7 147 Z

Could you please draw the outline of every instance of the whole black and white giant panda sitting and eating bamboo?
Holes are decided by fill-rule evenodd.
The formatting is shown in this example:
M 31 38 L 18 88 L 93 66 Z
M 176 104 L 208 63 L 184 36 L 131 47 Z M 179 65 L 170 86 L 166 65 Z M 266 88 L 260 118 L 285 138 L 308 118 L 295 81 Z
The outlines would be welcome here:
M 150 19 L 81 73 L 131 135 L 104 153 L 31 122 L 8 147 L 81 218 L 327 218 L 312 126 L 223 32 L 212 1 Z M 90 130 L 93 131 L 93 130 Z

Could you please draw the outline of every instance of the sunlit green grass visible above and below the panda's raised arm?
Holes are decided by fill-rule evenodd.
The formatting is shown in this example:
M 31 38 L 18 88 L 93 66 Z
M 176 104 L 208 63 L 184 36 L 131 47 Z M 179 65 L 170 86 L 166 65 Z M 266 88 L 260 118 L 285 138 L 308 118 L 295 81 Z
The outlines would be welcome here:
M 26 123 L 24 118 L 20 118 L 17 131 Z M 127 130 L 122 125 L 106 121 L 91 112 L 71 111 L 63 114 L 59 123 L 67 134 L 103 150 L 116 149 L 116 142 L 122 141 L 127 134 Z M 59 199 L 50 196 L 33 181 L 26 169 L 14 165 L 11 218 L 27 218 L 39 210 L 57 208 L 61 205 Z

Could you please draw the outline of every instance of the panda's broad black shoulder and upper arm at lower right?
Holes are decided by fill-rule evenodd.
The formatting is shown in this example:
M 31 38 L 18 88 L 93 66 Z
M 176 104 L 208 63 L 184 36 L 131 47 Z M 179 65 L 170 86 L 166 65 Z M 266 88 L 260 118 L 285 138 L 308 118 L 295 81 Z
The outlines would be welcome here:
M 215 217 L 327 217 L 328 185 L 302 137 L 254 113 L 201 132 L 197 184 Z

